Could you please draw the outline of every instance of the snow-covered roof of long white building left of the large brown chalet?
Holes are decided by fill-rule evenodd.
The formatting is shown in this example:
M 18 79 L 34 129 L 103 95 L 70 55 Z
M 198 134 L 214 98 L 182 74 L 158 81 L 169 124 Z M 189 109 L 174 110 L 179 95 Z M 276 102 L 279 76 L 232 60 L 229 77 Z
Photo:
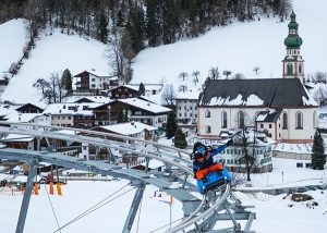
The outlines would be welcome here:
M 100 102 L 66 102 L 66 103 L 51 103 L 46 108 L 46 114 L 71 114 L 71 115 L 93 115 L 93 109 L 101 106 Z

